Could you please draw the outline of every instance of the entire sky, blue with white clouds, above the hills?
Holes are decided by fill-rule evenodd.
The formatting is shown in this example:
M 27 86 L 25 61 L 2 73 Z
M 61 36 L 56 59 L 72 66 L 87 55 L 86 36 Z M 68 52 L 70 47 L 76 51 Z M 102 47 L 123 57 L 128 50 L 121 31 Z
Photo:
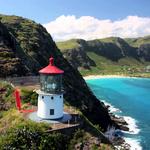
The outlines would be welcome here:
M 150 35 L 150 0 L 0 0 L 0 13 L 41 23 L 56 41 Z

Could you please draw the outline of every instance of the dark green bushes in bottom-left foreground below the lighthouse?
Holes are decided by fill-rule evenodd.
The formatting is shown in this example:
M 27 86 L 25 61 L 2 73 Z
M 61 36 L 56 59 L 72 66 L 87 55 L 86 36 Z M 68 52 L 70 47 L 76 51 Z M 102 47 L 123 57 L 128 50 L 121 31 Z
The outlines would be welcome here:
M 67 137 L 61 133 L 46 133 L 48 124 L 27 121 L 9 129 L 0 137 L 1 149 L 49 150 L 66 149 Z

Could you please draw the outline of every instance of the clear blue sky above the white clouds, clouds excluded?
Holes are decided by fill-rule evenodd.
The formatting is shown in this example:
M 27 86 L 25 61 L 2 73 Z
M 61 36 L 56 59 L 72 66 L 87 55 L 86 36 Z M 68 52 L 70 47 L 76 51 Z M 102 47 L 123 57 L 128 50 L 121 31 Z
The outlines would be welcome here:
M 0 13 L 47 23 L 61 15 L 117 20 L 150 16 L 150 0 L 0 0 Z

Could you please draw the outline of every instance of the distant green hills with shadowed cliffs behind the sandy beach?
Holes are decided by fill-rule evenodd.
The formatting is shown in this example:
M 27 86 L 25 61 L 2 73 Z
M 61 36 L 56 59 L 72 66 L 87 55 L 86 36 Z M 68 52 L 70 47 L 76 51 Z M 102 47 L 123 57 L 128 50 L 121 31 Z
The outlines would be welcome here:
M 73 39 L 58 42 L 57 46 L 83 75 L 133 73 L 143 72 L 150 64 L 149 37 L 137 38 L 136 43 L 134 39 L 119 37 L 91 41 Z

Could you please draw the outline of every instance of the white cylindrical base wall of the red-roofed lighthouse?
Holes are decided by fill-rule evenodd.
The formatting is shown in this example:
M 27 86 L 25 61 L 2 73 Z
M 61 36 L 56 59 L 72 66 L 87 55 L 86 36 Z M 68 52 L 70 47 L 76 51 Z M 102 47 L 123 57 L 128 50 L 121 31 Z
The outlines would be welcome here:
M 43 92 L 38 92 L 38 94 L 38 117 L 43 119 L 63 117 L 63 94 L 44 94 Z M 50 109 L 54 109 L 54 115 L 50 115 Z

